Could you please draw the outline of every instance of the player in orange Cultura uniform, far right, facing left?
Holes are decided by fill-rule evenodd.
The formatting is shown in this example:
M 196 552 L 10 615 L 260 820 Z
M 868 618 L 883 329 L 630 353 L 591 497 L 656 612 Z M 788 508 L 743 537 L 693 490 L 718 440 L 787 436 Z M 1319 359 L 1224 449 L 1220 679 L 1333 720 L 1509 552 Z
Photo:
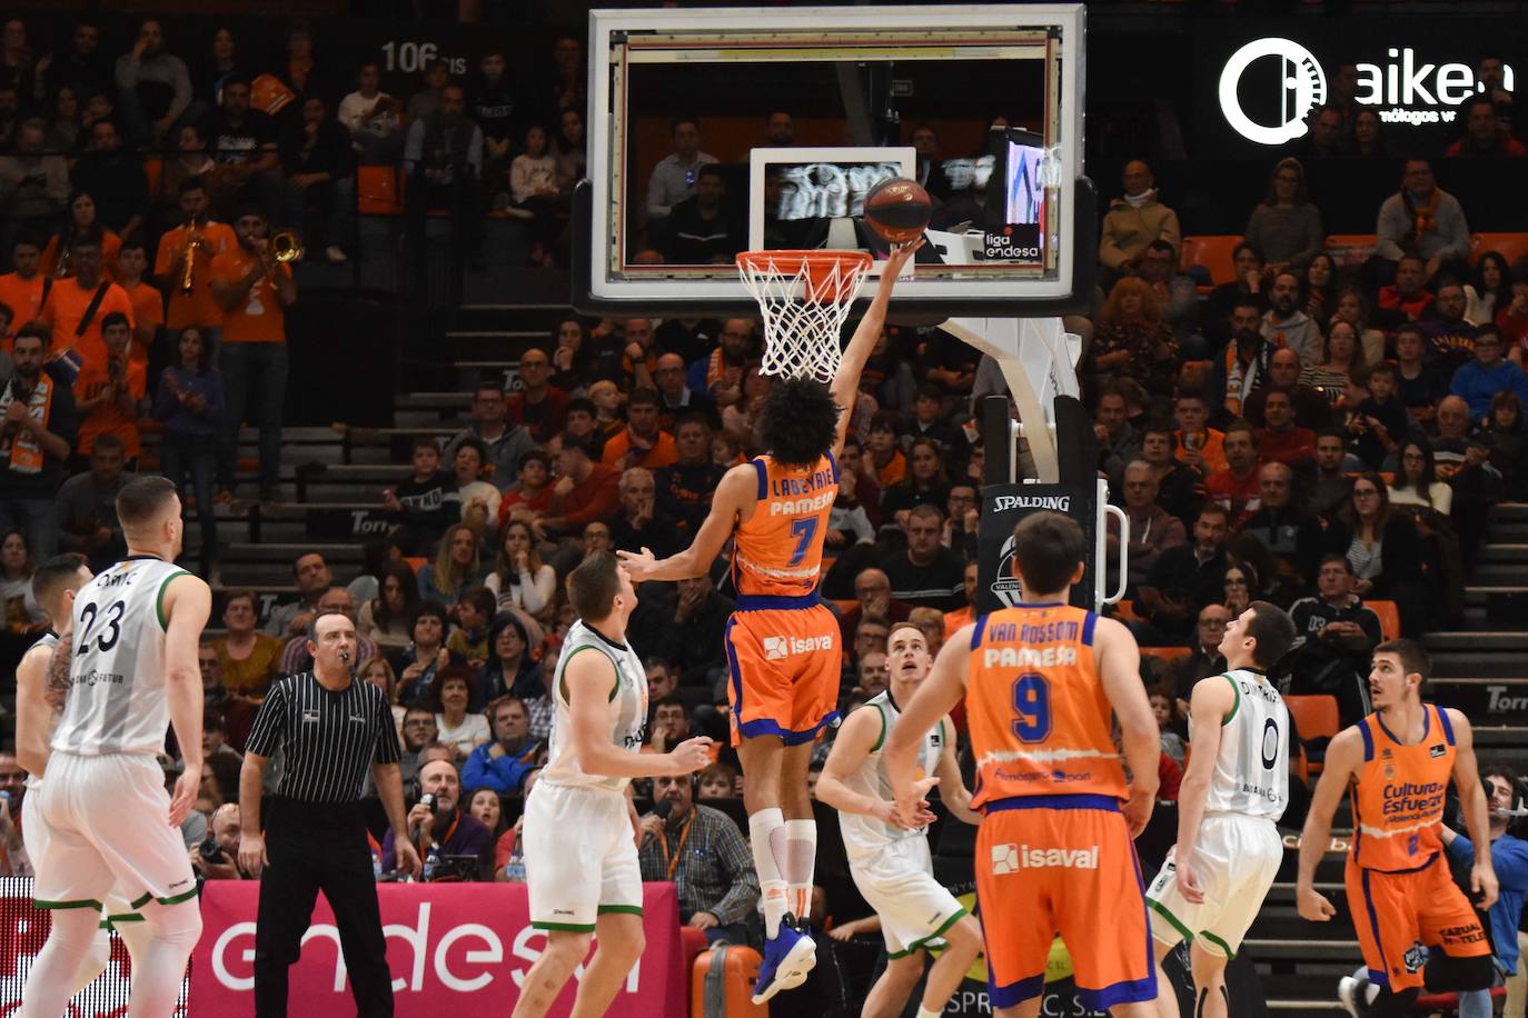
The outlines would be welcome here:
M 1328 922 L 1335 910 L 1314 887 L 1316 867 L 1326 855 L 1332 813 L 1343 792 L 1351 795 L 1354 835 L 1343 882 L 1369 977 L 1345 977 L 1337 994 L 1363 1018 L 1410 1015 L 1424 984 L 1475 991 L 1488 989 L 1494 977 L 1491 945 L 1475 911 L 1490 910 L 1497 890 L 1475 733 L 1462 713 L 1423 702 L 1429 668 L 1427 652 L 1412 639 L 1374 649 L 1374 713 L 1326 746 L 1300 835 L 1300 916 Z M 1450 777 L 1475 841 L 1475 907 L 1442 859 Z

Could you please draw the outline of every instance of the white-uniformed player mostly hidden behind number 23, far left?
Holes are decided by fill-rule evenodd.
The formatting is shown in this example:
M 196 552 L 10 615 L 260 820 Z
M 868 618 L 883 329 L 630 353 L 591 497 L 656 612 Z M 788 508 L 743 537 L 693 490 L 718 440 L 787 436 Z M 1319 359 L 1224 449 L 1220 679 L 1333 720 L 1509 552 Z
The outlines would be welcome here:
M 81 554 L 64 554 L 49 559 L 32 574 L 32 595 L 55 627 L 64 627 L 75 603 L 75 592 L 93 577 Z M 58 633 L 49 629 L 32 644 L 21 664 L 15 668 L 15 759 L 28 774 L 26 797 L 21 800 L 21 842 L 32 861 L 49 853 L 52 832 L 43 820 L 43 772 L 47 769 L 49 740 L 58 725 L 58 711 L 46 699 L 47 673 L 53 664 L 53 649 Z M 113 891 L 102 902 L 101 920 L 90 942 L 90 951 L 75 972 L 69 997 L 83 991 L 95 977 L 105 971 L 112 960 L 112 929 L 122 937 L 133 968 L 142 965 L 148 931 L 142 916 Z

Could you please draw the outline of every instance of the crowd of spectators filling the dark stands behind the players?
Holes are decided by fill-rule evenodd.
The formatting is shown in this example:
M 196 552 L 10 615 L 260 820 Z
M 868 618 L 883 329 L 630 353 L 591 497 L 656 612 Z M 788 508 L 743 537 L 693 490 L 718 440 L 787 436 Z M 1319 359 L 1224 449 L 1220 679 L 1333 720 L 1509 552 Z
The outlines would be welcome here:
M 24 40 L 12 21 L 6 47 L 15 32 Z M 304 235 L 321 238 L 309 249 L 342 258 L 350 163 L 402 159 L 419 183 L 414 212 L 518 209 L 533 259 L 549 264 L 558 212 L 582 176 L 571 38 L 556 43 L 558 73 L 545 79 L 512 79 L 490 53 L 468 84 L 432 64 L 408 98 L 380 92 L 376 64 L 338 95 L 336 69 L 303 27 L 264 67 L 228 32 L 205 60 L 176 55 L 179 44 L 145 21 L 113 61 L 81 23 L 35 63 L 0 55 L 12 269 L 0 278 L 0 603 L 15 635 L 47 624 L 28 592 L 32 563 L 78 549 L 99 568 L 121 554 L 112 499 L 147 467 L 147 421 L 160 427 L 159 469 L 194 505 L 205 569 L 219 562 L 208 510 L 237 495 L 241 421 L 261 435 L 258 496 L 280 498 L 283 314 L 298 293 L 272 255 L 272 223 L 307 217 Z M 263 111 L 272 96 L 284 98 L 275 114 Z M 1510 95 L 1471 104 L 1465 137 L 1444 157 L 1523 156 L 1510 108 Z M 1144 647 L 1189 652 L 1170 667 L 1151 655 L 1143 664 L 1169 777 L 1183 757 L 1181 702 L 1224 667 L 1215 647 L 1250 600 L 1299 624 L 1282 687 L 1335 694 L 1352 719 L 1368 710 L 1357 676 L 1380 639 L 1366 601 L 1394 603 L 1406 635 L 1456 620 L 1490 507 L 1528 491 L 1528 266 L 1494 252 L 1470 259 L 1471 224 L 1421 157 L 1404 160 L 1397 192 L 1375 209 L 1368 261 L 1339 267 L 1323 252 L 1322 195 L 1308 192 L 1302 160 L 1372 154 L 1366 116 L 1313 114 L 1309 143 L 1273 165 L 1250 211 L 1235 279 L 1207 293 L 1180 270 L 1193 223 L 1131 162 L 1103 218 L 1097 310 L 1068 319 L 1088 340 L 1079 374 L 1097 466 L 1131 519 L 1129 626 Z M 788 140 L 788 121 L 772 116 L 770 137 Z M 932 128 L 920 130 L 921 153 Z M 163 166 L 170 205 L 124 154 L 167 143 L 179 147 Z M 674 153 L 646 191 L 663 244 L 727 253 L 706 232 L 724 186 L 704 171 L 711 162 L 700 125 L 675 122 Z M 202 871 L 237 876 L 228 850 L 254 705 L 277 676 L 310 665 L 304 632 L 322 609 L 354 620 L 356 675 L 393 705 L 405 781 L 416 798 L 435 795 L 411 823 L 449 832 L 440 856 L 475 856 L 472 879 L 523 879 L 515 817 L 545 759 L 549 687 L 573 621 L 562 578 L 594 551 L 688 545 L 721 475 L 761 452 L 761 345 L 749 319 L 570 316 L 523 354 L 518 388 L 484 380 L 460 433 L 413 443 L 396 484 L 377 493 L 393 528 L 359 577 L 341 585 L 321 554 L 303 554 L 292 562 L 298 600 L 264 620 L 254 592 L 223 592 L 220 635 L 202 655 L 217 752 L 186 830 Z M 886 688 L 892 623 L 911 620 L 937 650 L 972 617 L 984 464 L 975 397 L 1002 392 L 983 383 L 993 374 L 973 348 L 906 327 L 886 330 L 865 369 L 822 581 L 842 620 L 843 710 Z M 1109 546 L 1117 563 L 1117 534 Z M 692 733 L 726 742 L 732 606 L 724 560 L 640 589 L 630 639 L 648 670 L 651 749 Z M 669 818 L 691 817 L 697 794 L 735 798 L 741 780 L 721 748 L 697 788 L 642 789 L 669 803 L 643 820 L 643 875 L 678 879 L 685 920 L 730 931 L 712 936 L 740 937 L 753 914 L 747 852 L 736 826 L 701 806 L 694 815 L 707 820 L 689 836 L 709 849 L 675 862 Z M 1164 780 L 1164 794 L 1175 784 Z M 223 856 L 202 850 L 208 838 Z M 9 859 L 24 871 L 15 846 Z M 391 844 L 379 844 L 379 871 L 390 859 Z

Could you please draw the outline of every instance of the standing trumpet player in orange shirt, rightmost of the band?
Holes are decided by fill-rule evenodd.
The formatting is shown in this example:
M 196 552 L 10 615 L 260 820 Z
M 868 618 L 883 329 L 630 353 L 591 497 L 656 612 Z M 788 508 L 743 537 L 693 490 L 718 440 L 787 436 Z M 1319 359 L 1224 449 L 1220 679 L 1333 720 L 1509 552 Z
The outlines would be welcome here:
M 286 308 L 296 301 L 292 267 L 270 253 L 269 224 L 260 209 L 234 221 L 238 244 L 212 259 L 212 295 L 223 310 L 226 403 L 219 446 L 217 484 L 234 490 L 238 429 L 249 414 L 260 427 L 260 501 L 280 495 L 281 409 L 286 401 Z

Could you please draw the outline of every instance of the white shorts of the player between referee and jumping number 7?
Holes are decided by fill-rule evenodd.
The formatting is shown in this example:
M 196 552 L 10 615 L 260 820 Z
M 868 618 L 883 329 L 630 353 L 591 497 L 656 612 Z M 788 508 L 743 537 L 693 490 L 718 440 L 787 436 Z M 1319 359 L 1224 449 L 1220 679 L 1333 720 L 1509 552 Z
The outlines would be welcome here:
M 642 867 L 623 792 L 536 781 L 521 836 L 536 929 L 591 933 L 604 913 L 642 914 Z

